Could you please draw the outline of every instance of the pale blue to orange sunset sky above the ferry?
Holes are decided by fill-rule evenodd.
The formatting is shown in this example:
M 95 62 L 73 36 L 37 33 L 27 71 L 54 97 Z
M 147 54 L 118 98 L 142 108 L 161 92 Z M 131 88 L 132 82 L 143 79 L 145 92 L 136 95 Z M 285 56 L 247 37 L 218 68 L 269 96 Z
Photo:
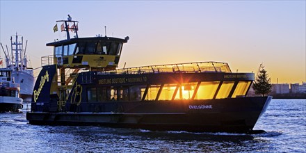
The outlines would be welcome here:
M 272 83 L 306 81 L 305 1 L 0 4 L 1 43 L 4 47 L 9 45 L 10 36 L 16 32 L 23 35 L 29 40 L 26 53 L 33 68 L 40 67 L 41 56 L 53 54 L 53 48 L 46 47 L 46 43 L 65 38 L 65 33 L 54 33 L 52 29 L 56 20 L 67 19 L 70 14 L 79 21 L 79 37 L 129 36 L 119 67 L 220 61 L 229 63 L 232 72 L 257 73 L 263 63 Z M 71 9 L 67 10 L 67 6 Z

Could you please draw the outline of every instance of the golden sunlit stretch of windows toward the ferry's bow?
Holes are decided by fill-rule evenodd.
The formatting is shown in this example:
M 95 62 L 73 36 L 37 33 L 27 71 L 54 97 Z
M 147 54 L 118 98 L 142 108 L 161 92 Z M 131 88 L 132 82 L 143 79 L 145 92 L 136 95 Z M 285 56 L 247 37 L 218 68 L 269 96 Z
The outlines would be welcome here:
M 216 95 L 220 81 L 202 81 L 199 85 L 198 82 L 182 83 L 182 84 L 165 84 L 162 88 L 161 85 L 151 85 L 148 88 L 145 100 L 155 100 L 158 96 L 158 100 L 171 100 L 174 96 L 175 100 L 178 99 L 214 99 Z M 234 86 L 234 81 L 225 81 L 220 86 L 217 99 L 227 98 Z M 250 86 L 250 81 L 240 81 L 232 97 L 237 95 L 245 95 Z M 159 91 L 161 88 L 161 91 Z M 198 88 L 198 89 L 196 89 Z M 195 90 L 197 92 L 194 95 Z M 145 88 L 141 88 L 141 95 L 144 95 Z

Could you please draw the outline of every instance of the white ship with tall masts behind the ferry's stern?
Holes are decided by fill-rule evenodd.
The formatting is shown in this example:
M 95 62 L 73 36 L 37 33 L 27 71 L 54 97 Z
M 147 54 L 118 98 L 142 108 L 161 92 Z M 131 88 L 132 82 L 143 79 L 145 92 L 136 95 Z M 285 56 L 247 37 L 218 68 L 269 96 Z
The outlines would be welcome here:
M 6 50 L 3 49 L 2 45 L 1 47 L 6 56 L 6 67 L 12 70 L 12 78 L 15 80 L 14 83 L 19 84 L 20 97 L 27 99 L 31 98 L 33 94 L 35 79 L 33 77 L 33 68 L 28 67 L 26 45 L 24 47 L 23 37 L 21 36 L 21 40 L 19 38 L 20 36 L 17 33 L 13 37 L 10 37 L 11 51 L 8 51 L 7 46 Z

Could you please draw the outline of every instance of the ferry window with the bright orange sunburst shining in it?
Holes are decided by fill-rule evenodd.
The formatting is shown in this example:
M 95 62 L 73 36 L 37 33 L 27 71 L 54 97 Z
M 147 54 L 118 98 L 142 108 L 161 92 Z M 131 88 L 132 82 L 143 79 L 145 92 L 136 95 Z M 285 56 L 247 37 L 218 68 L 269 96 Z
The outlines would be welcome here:
M 177 95 L 175 95 L 175 99 L 191 99 L 193 97 L 193 92 L 195 91 L 195 87 L 198 82 L 194 83 L 183 83 L 179 86 L 179 90 L 177 90 Z

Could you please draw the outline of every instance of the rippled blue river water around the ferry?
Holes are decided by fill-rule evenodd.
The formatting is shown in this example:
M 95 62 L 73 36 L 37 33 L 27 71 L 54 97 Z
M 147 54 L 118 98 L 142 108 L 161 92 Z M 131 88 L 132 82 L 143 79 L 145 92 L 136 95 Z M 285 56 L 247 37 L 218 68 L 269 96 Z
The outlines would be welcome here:
M 0 152 L 306 152 L 305 99 L 273 99 L 254 128 L 263 134 L 38 126 L 24 107 L 0 113 Z

